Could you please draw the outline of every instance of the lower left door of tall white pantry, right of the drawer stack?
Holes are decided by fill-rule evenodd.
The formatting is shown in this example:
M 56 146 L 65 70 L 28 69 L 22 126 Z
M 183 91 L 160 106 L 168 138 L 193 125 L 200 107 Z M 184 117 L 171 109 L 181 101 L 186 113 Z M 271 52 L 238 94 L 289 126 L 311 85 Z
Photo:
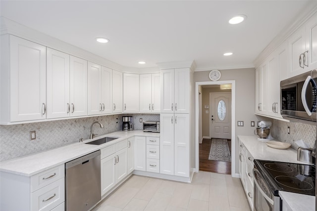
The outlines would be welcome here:
M 159 172 L 174 175 L 173 114 L 160 114 Z

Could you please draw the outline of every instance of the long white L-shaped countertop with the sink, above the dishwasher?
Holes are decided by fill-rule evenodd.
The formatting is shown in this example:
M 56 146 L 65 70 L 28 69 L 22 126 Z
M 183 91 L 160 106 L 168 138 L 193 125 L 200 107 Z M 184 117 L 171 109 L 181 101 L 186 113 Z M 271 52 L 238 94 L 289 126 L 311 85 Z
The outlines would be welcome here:
M 101 145 L 85 144 L 87 142 L 103 138 L 105 136 L 119 138 Z M 51 169 L 53 167 L 62 165 L 68 161 L 95 152 L 132 136 L 159 137 L 159 133 L 143 132 L 142 130 L 132 130 L 115 131 L 103 135 L 98 135 L 94 139 L 85 139 L 83 140 L 83 142 L 75 142 L 58 148 L 3 161 L 0 163 L 0 171 L 19 174 L 23 176 L 32 176 L 46 169 Z

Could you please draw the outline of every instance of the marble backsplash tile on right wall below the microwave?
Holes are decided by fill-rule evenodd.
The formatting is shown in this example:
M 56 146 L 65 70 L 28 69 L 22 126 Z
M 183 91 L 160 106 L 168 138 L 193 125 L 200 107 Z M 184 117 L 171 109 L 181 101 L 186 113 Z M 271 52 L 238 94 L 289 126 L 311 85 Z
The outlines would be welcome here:
M 290 134 L 287 133 L 290 127 Z M 303 123 L 287 123 L 273 120 L 270 130 L 272 136 L 280 141 L 292 144 L 292 148 L 298 148 L 295 141 L 302 139 L 309 147 L 313 148 L 316 140 L 316 126 Z

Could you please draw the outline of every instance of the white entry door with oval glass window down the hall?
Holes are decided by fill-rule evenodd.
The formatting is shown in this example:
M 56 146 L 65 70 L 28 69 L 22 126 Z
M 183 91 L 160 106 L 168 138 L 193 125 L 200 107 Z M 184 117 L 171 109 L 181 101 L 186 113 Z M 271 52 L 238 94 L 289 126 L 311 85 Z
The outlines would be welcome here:
M 210 93 L 210 135 L 231 139 L 231 92 Z

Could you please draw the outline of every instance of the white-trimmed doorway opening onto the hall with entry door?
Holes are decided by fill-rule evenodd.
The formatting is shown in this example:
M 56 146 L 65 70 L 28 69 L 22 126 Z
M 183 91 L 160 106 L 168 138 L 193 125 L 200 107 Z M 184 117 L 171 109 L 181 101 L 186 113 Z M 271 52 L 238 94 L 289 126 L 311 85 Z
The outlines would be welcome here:
M 220 84 L 231 84 L 231 89 L 220 89 Z M 208 97 L 207 97 L 208 96 Z M 196 82 L 195 170 L 235 174 L 235 81 Z M 219 141 L 218 139 L 224 139 Z M 214 142 L 212 144 L 212 142 Z M 219 160 L 210 160 L 211 145 L 227 145 L 231 162 L 218 147 Z M 221 150 L 221 153 L 219 153 Z M 220 156 L 221 157 L 221 156 Z M 224 159 L 224 160 L 221 160 Z

